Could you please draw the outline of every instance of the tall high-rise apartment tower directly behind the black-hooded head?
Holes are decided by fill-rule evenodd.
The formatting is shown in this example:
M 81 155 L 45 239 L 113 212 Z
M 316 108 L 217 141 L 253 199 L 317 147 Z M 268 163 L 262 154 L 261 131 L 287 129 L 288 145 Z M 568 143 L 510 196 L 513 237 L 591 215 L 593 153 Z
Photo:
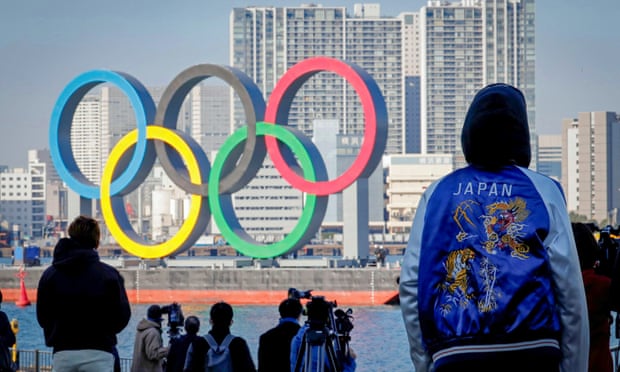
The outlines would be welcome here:
M 431 0 L 421 9 L 422 153 L 452 153 L 457 167 L 464 165 L 463 120 L 490 83 L 523 91 L 535 132 L 534 17 L 534 0 Z

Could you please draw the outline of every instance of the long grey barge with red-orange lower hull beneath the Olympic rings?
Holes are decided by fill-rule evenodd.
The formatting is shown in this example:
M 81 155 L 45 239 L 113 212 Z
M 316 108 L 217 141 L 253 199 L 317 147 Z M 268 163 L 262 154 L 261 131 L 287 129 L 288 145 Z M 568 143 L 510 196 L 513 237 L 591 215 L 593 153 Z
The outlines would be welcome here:
M 43 268 L 28 268 L 27 294 L 36 298 Z M 379 305 L 398 291 L 398 269 L 334 268 L 155 268 L 119 269 L 133 303 L 210 303 L 218 300 L 233 304 L 277 304 L 289 288 L 312 289 L 313 295 L 352 305 Z M 0 270 L 0 288 L 5 301 L 19 298 L 18 271 Z

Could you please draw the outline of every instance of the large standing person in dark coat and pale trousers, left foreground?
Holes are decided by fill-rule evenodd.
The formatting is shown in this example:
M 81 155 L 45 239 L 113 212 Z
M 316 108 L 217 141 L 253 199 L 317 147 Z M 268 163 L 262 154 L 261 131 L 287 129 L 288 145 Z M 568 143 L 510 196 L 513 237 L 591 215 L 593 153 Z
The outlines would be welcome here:
M 112 372 L 116 335 L 131 317 L 123 277 L 101 261 L 101 231 L 79 216 L 39 280 L 37 320 L 53 348 L 54 371 Z

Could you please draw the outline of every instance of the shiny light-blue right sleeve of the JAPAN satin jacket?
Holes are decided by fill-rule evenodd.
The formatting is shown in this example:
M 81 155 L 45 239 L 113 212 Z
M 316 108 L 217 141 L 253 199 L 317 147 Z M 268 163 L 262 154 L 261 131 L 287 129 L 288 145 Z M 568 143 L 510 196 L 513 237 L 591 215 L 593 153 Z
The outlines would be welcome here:
M 550 231 L 545 239 L 562 327 L 561 371 L 587 371 L 590 342 L 588 306 L 577 248 L 561 192 L 548 196 Z

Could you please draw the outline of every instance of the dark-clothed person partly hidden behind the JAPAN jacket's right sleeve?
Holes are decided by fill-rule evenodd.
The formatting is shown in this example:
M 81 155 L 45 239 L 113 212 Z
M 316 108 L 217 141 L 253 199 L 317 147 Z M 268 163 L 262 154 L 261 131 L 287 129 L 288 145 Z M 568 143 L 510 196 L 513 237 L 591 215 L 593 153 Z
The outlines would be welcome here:
M 588 302 L 590 321 L 589 372 L 612 372 L 613 360 L 609 350 L 611 337 L 611 279 L 597 274 L 595 269 L 599 246 L 592 232 L 583 223 L 573 223 L 573 235 L 579 254 L 579 264 Z

